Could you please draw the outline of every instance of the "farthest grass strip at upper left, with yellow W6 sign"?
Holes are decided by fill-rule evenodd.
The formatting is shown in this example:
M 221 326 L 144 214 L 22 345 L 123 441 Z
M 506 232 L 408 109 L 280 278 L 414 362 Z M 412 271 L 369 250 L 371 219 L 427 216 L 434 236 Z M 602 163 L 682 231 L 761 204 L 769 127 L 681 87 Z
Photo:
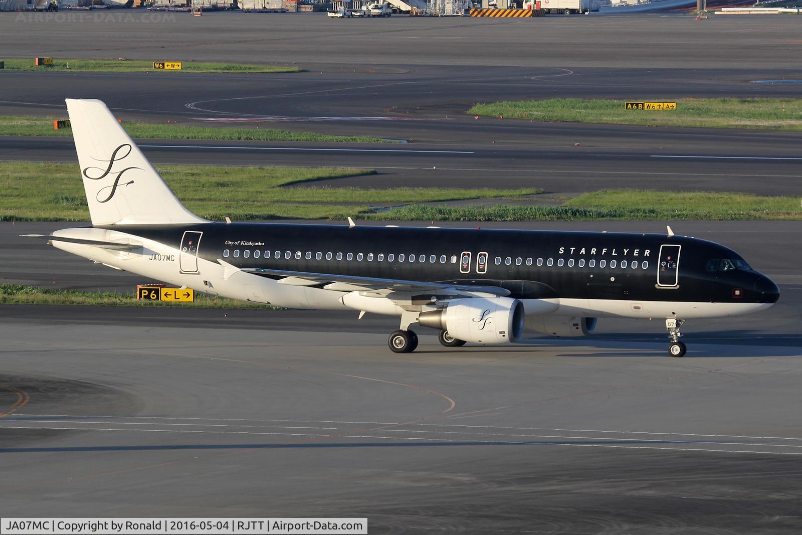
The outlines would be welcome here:
M 156 58 L 156 61 L 162 61 Z M 5 59 L 6 71 L 67 71 L 67 72 L 152 72 L 156 75 L 182 72 L 233 72 L 233 73 L 282 73 L 301 72 L 302 69 L 290 66 L 253 65 L 249 63 L 205 63 L 194 61 L 181 62 L 180 70 L 154 70 L 152 61 L 140 59 L 76 59 L 54 58 L 52 65 L 37 67 L 33 58 Z M 174 59 L 170 59 L 174 61 Z M 2 74 L 2 73 L 0 73 Z

